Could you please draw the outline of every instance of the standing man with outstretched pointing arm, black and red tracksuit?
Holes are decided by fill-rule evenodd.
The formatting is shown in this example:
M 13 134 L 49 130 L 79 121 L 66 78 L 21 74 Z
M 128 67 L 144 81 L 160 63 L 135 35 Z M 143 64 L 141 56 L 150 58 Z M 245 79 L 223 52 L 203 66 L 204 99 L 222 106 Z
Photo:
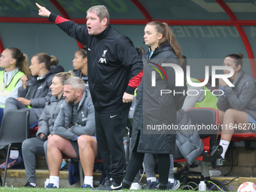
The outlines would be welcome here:
M 97 190 L 118 190 L 125 166 L 123 132 L 133 93 L 142 79 L 142 60 L 130 38 L 110 26 L 104 5 L 93 6 L 87 11 L 87 26 L 78 26 L 36 5 L 39 15 L 49 17 L 51 22 L 87 47 L 96 136 L 107 173 Z

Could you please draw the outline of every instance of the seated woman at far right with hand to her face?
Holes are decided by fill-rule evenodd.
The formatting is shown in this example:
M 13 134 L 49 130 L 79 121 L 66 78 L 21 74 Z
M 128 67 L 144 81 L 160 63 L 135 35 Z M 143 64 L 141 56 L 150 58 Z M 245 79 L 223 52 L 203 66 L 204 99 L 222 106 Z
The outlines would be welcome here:
M 227 55 L 224 59 L 223 65 L 230 66 L 234 71 L 229 78 L 234 87 L 219 79 L 219 87 L 224 92 L 222 96 L 218 96 L 217 102 L 219 122 L 222 124 L 219 145 L 223 148 L 223 159 L 234 131 L 250 131 L 249 124 L 256 123 L 256 80 L 242 70 L 242 58 L 242 53 L 239 53 Z M 229 73 L 229 70 L 224 70 L 224 74 Z

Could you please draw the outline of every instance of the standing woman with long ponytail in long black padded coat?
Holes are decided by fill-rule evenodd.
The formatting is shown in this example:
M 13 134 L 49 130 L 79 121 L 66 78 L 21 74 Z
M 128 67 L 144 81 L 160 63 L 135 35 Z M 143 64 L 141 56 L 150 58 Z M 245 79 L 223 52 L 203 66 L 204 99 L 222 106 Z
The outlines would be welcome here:
M 179 66 L 181 60 L 181 48 L 169 26 L 157 21 L 148 23 L 145 26 L 144 38 L 149 50 L 143 56 L 143 81 L 138 87 L 133 115 L 131 142 L 133 152 L 122 186 L 130 187 L 142 166 L 145 153 L 151 153 L 157 154 L 160 165 L 159 188 L 165 190 L 169 175 L 169 154 L 174 154 L 175 151 L 175 130 L 148 130 L 148 126 L 177 126 L 176 111 L 183 105 L 185 99 L 183 92 L 186 93 L 187 86 L 184 84 L 183 87 L 175 87 L 174 69 L 162 66 L 162 63 L 175 63 Z M 152 77 L 155 77 L 155 81 Z M 161 94 L 161 90 L 171 90 L 172 93 L 180 94 Z

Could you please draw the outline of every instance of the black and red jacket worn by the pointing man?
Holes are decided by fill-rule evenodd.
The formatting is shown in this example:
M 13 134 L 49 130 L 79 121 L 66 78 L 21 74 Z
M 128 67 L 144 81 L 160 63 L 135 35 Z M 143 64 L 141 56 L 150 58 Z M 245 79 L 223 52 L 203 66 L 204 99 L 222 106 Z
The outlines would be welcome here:
M 79 26 L 56 14 L 49 21 L 87 47 L 88 81 L 95 110 L 101 113 L 123 111 L 123 93 L 133 94 L 143 75 L 139 58 L 130 38 L 110 25 L 99 35 L 89 35 L 86 26 Z

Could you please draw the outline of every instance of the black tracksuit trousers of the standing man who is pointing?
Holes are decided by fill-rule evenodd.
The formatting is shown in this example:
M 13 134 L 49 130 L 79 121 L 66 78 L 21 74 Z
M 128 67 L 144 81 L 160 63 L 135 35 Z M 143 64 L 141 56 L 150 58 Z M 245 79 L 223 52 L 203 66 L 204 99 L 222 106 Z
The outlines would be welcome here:
M 108 178 L 114 178 L 117 184 L 121 183 L 125 169 L 123 133 L 129 110 L 130 108 L 127 108 L 111 113 L 95 111 L 98 151 Z

